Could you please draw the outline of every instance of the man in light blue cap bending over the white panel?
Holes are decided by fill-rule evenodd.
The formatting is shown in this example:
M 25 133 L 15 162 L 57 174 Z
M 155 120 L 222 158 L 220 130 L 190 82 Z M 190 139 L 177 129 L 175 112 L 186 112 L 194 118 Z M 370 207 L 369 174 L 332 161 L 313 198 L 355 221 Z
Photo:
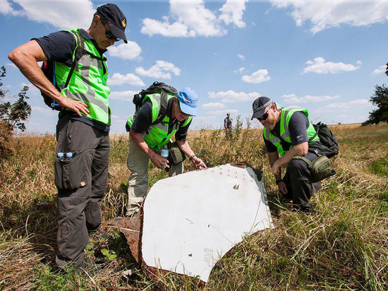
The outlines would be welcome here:
M 148 188 L 148 161 L 159 169 L 167 169 L 169 177 L 183 172 L 183 160 L 176 162 L 160 155 L 164 145 L 171 143 L 175 135 L 176 144 L 188 156 L 197 169 L 206 168 L 205 162 L 198 158 L 186 139 L 193 116 L 197 115 L 198 96 L 192 88 L 183 88 L 178 94 L 167 95 L 166 116 L 155 124 L 161 110 L 162 95 L 145 95 L 138 112 L 128 118 L 126 129 L 129 131 L 129 155 L 127 160 L 131 176 L 128 179 L 128 206 L 126 216 L 138 212 Z

